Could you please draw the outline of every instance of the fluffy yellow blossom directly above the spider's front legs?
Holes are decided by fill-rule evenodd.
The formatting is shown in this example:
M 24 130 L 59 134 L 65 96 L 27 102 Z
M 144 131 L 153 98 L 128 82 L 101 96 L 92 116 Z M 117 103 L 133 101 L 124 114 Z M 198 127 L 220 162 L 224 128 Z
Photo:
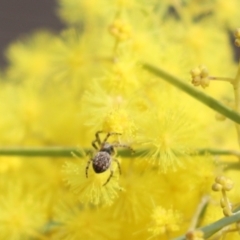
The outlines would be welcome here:
M 81 102 L 83 109 L 86 109 L 84 106 L 91 105 L 91 111 L 86 109 L 82 113 L 86 125 L 95 129 L 95 132 L 98 130 L 119 132 L 124 137 L 132 138 L 136 126 L 126 95 L 110 94 L 105 83 L 106 81 L 102 79 L 92 82 L 83 96 Z

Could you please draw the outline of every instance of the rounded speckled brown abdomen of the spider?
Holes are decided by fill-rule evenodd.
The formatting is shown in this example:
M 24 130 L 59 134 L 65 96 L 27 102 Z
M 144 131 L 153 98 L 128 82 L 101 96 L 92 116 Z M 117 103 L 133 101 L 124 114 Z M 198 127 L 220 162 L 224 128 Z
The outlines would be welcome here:
M 111 165 L 111 156 L 107 152 L 98 152 L 92 161 L 93 170 L 96 173 L 105 172 Z

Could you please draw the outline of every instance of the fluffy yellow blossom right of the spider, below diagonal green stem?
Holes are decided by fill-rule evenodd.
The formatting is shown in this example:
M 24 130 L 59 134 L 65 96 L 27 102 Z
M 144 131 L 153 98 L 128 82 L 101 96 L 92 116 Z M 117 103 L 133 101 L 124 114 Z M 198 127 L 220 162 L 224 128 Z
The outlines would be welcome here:
M 189 156 L 195 143 L 201 142 L 197 135 L 192 136 L 196 126 L 189 118 L 186 121 L 185 114 L 173 102 L 161 104 L 158 109 L 153 106 L 138 120 L 138 141 L 142 148 L 148 149 L 146 160 L 159 165 L 162 172 L 183 166 L 181 157 Z

